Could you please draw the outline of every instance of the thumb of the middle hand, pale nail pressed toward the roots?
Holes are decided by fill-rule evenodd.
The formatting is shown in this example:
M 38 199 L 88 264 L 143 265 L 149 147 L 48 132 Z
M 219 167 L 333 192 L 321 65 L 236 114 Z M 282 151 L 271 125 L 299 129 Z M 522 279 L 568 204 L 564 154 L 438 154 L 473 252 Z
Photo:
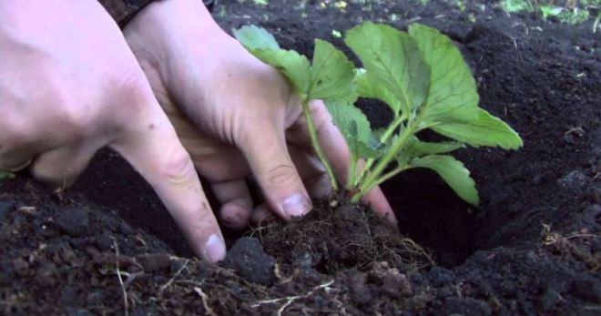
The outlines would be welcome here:
M 284 127 L 260 124 L 245 133 L 239 148 L 271 209 L 282 219 L 301 217 L 311 209 L 311 200 L 290 159 Z

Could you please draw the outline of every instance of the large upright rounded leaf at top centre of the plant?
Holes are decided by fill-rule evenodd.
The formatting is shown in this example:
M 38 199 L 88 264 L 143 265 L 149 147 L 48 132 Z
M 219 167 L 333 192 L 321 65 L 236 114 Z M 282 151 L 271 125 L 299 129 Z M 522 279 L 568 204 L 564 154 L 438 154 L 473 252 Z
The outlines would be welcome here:
M 347 32 L 345 43 L 365 68 L 366 77 L 359 80 L 364 97 L 381 99 L 395 115 L 401 110 L 409 115 L 423 104 L 430 71 L 411 36 L 389 25 L 365 22 Z M 398 102 L 391 102 L 392 97 Z

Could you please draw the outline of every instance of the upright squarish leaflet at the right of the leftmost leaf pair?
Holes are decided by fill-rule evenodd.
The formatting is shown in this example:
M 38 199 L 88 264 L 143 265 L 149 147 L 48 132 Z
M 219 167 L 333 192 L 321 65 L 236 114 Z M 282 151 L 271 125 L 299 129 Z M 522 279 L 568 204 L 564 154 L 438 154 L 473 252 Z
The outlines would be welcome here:
M 310 99 L 337 99 L 353 103 L 357 93 L 353 85 L 355 66 L 330 43 L 315 40 L 311 66 Z

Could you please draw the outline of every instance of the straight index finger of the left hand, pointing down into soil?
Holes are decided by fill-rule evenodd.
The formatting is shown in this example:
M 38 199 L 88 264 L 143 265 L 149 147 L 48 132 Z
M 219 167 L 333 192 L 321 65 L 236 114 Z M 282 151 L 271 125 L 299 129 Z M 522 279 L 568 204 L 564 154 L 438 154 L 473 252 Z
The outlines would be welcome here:
M 210 262 L 223 260 L 223 236 L 188 152 L 156 101 L 149 112 L 132 118 L 137 124 L 112 147 L 155 189 L 192 250 Z

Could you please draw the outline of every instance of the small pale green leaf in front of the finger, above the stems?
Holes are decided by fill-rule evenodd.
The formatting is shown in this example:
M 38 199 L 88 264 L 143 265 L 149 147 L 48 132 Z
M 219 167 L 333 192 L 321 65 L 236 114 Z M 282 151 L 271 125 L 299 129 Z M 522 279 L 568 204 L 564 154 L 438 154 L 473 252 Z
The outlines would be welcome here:
M 379 148 L 373 145 L 370 121 L 359 108 L 341 101 L 326 102 L 326 107 L 355 157 L 378 158 L 382 155 Z

